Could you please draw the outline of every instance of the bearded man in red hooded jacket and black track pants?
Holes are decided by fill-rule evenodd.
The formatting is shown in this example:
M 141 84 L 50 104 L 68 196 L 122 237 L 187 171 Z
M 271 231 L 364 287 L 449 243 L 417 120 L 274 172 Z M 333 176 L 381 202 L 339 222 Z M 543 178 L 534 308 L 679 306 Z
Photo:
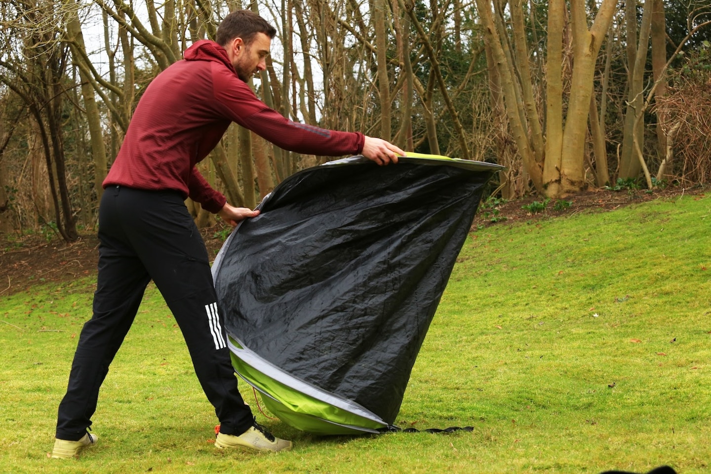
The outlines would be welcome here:
M 237 391 L 203 239 L 183 201 L 188 196 L 237 225 L 257 210 L 236 208 L 195 166 L 230 122 L 283 149 L 341 156 L 361 153 L 380 165 L 405 152 L 359 133 L 291 122 L 266 107 L 247 80 L 266 68 L 276 30 L 250 11 L 233 11 L 217 42 L 198 41 L 161 72 L 141 97 L 107 178 L 99 211 L 99 264 L 93 315 L 75 352 L 59 405 L 53 458 L 70 458 L 97 441 L 92 424 L 100 386 L 152 279 L 181 328 L 193 367 L 220 421 L 217 448 L 282 451 L 290 441 L 256 423 Z

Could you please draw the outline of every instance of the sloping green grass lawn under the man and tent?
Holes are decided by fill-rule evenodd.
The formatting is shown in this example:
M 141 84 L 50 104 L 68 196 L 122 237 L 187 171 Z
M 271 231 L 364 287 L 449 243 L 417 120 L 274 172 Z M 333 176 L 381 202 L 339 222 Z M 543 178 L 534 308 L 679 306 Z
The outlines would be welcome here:
M 0 300 L 6 473 L 599 473 L 711 460 L 711 198 L 470 235 L 396 423 L 451 434 L 319 438 L 218 452 L 215 416 L 161 296 L 146 292 L 94 416 L 98 446 L 47 458 L 92 281 Z M 241 385 L 253 407 L 251 390 Z M 255 409 L 256 411 L 256 409 Z

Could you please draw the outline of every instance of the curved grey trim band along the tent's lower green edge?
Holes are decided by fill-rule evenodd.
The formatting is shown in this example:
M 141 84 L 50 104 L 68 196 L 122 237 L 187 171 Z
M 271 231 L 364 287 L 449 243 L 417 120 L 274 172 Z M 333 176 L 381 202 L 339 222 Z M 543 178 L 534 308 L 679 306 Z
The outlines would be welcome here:
M 235 344 L 232 343 L 231 339 L 234 339 L 237 341 L 237 344 L 239 344 L 242 347 L 239 347 Z M 343 397 L 338 397 L 337 395 L 331 394 L 329 392 L 326 392 L 323 389 L 320 389 L 319 387 L 314 386 L 313 384 L 309 384 L 308 382 L 304 382 L 301 379 L 298 379 L 292 375 L 287 374 L 287 372 L 284 372 L 284 370 L 279 369 L 276 365 L 272 364 L 271 362 L 265 360 L 263 357 L 260 355 L 257 355 L 256 352 L 253 350 L 250 350 L 245 347 L 245 345 L 240 341 L 238 338 L 235 338 L 234 335 L 230 335 L 230 338 L 228 338 L 228 348 L 230 348 L 230 352 L 234 354 L 236 357 L 239 357 L 242 362 L 245 362 L 247 365 L 250 367 L 253 367 L 255 370 L 258 370 L 259 372 L 262 372 L 262 374 L 266 375 L 267 377 L 270 377 L 277 382 L 280 382 L 284 385 L 287 385 L 288 387 L 291 387 L 294 389 L 296 392 L 301 392 L 302 394 L 306 394 L 309 397 L 313 397 L 314 399 L 317 399 L 321 402 L 324 402 L 326 404 L 329 404 L 331 406 L 335 406 L 338 409 L 342 409 L 343 411 L 348 411 L 348 413 L 352 413 L 358 416 L 361 416 L 365 419 L 369 419 L 370 421 L 375 421 L 375 423 L 382 424 L 383 426 L 387 426 L 387 423 L 383 421 L 383 419 L 380 418 L 380 416 L 374 414 L 372 411 L 369 411 L 363 406 L 360 406 L 358 404 L 355 404 L 349 400 L 344 399 Z M 240 375 L 242 379 L 245 380 L 248 384 L 252 385 L 252 387 L 255 387 L 249 379 L 241 375 L 239 372 L 237 372 L 237 375 Z M 269 398 L 272 398 L 279 402 L 279 400 L 275 399 L 272 397 L 270 394 L 267 394 L 263 390 L 259 389 L 259 387 L 255 387 L 255 389 L 260 390 L 260 393 L 266 394 Z M 318 418 L 318 417 L 316 417 Z M 319 418 L 321 419 L 321 418 Z M 325 419 L 322 419 L 324 421 L 328 421 Z M 329 423 L 333 423 L 333 421 L 329 421 Z M 348 428 L 353 428 L 357 429 L 359 431 L 369 431 L 372 433 L 378 433 L 376 430 L 370 430 L 370 429 L 365 429 L 363 427 L 355 427 L 355 426 L 348 426 L 348 425 L 342 425 L 338 423 L 333 423 L 339 426 L 346 426 Z

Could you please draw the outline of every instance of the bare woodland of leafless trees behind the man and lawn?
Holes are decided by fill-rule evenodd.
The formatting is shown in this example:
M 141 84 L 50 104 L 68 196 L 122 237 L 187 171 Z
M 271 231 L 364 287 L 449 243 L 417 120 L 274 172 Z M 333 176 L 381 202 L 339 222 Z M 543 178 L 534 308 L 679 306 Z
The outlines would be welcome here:
M 95 227 L 141 93 L 237 8 L 279 31 L 252 81 L 270 107 L 499 163 L 496 198 L 710 181 L 711 0 L 5 0 L 0 234 L 73 242 Z M 253 207 L 327 159 L 233 124 L 199 166 L 230 203 Z

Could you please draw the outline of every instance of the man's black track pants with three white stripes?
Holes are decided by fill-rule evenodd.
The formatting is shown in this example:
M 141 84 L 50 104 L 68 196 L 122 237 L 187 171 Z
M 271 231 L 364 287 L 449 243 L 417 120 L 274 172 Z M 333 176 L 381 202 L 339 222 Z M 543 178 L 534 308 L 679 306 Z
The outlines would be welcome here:
M 180 193 L 110 186 L 101 200 L 99 240 L 93 316 L 82 328 L 59 405 L 57 438 L 78 440 L 92 424 L 99 388 L 151 279 L 181 328 L 220 431 L 240 434 L 252 426 L 237 391 L 205 243 Z

